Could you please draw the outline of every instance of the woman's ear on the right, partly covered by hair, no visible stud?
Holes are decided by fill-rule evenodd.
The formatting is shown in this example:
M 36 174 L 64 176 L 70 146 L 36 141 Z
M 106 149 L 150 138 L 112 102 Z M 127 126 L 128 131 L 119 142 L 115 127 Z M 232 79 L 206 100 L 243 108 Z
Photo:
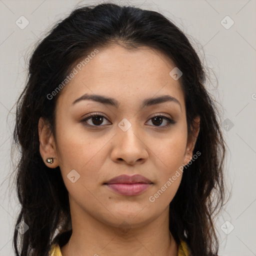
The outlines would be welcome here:
M 191 161 L 193 157 L 193 150 L 194 150 L 194 145 L 199 133 L 200 129 L 200 117 L 196 116 L 193 119 L 193 129 L 192 129 L 192 134 L 189 133 L 187 136 L 187 142 L 186 142 L 186 151 L 184 155 L 184 161 L 183 164 L 186 165 L 189 161 Z

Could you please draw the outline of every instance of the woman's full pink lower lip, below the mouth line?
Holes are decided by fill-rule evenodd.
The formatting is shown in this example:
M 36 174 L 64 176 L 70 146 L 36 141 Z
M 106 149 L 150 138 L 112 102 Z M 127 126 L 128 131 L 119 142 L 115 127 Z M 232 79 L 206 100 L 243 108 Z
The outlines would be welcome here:
M 149 188 L 149 183 L 110 183 L 106 184 L 110 189 L 122 195 L 140 194 Z

